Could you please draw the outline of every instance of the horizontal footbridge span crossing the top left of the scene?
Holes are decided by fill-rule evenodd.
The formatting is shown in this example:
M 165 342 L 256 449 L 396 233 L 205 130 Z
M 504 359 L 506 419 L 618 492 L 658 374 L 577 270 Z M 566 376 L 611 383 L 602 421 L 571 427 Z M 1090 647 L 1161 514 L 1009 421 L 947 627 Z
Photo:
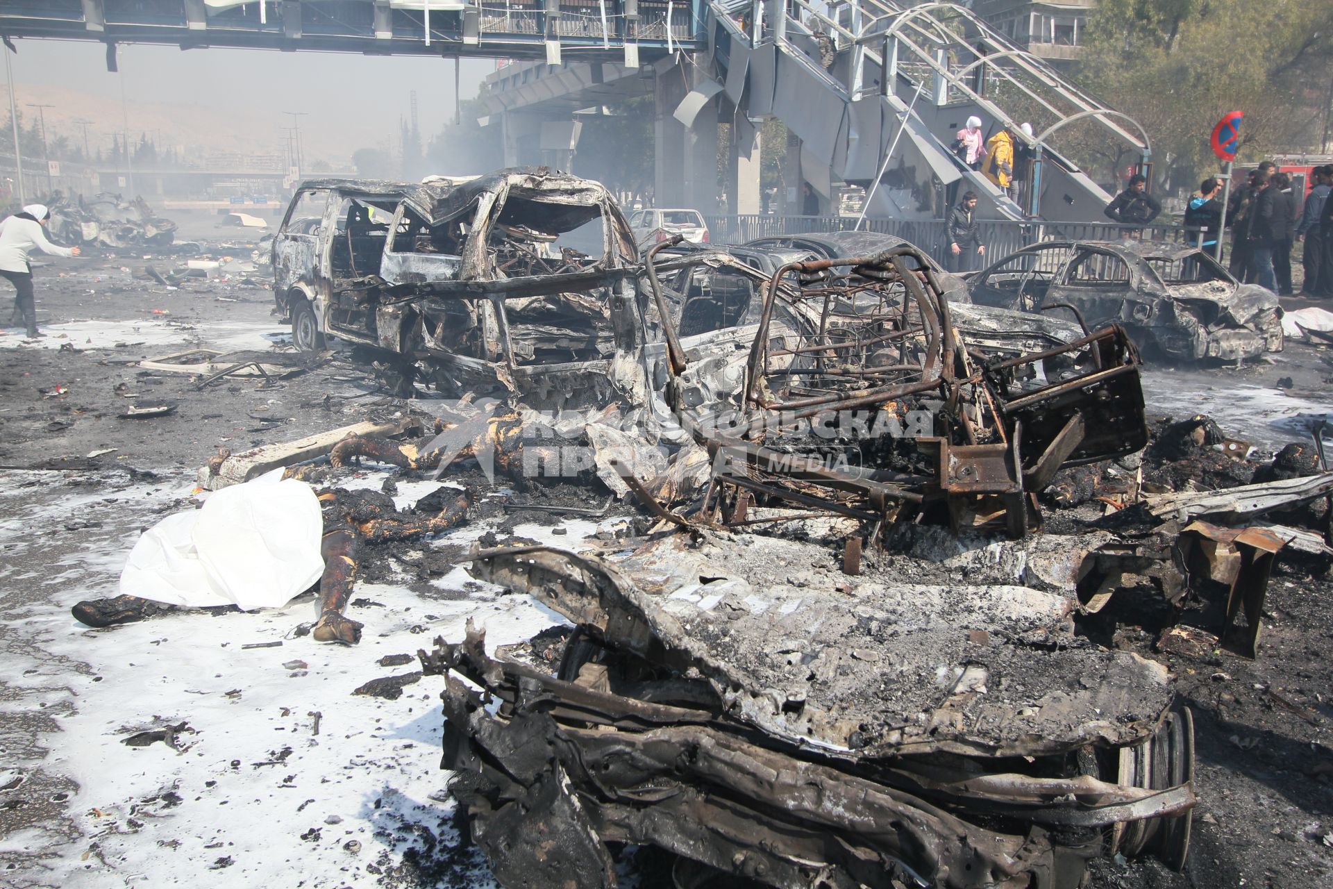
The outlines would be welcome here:
M 619 60 L 693 49 L 692 3 L 613 0 L 4 0 L 0 33 L 181 49 Z

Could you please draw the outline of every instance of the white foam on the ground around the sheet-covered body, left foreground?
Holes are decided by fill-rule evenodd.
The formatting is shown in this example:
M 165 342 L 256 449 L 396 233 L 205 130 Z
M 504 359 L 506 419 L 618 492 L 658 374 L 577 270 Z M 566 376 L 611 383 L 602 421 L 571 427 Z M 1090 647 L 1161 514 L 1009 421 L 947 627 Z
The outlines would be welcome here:
M 415 661 L 392 668 L 375 661 L 415 654 L 435 636 L 460 641 L 469 618 L 487 630 L 493 650 L 531 638 L 560 622 L 559 616 L 456 568 L 432 582 L 448 600 L 407 585 L 357 585 L 353 600 L 376 602 L 348 609 L 365 624 L 357 646 L 292 636 L 315 617 L 309 600 L 253 614 L 180 612 L 91 630 L 69 616 L 69 606 L 115 593 L 137 529 L 157 520 L 155 509 L 177 498 L 188 502 L 192 478 L 181 473 L 119 492 L 21 486 L 43 474 L 0 473 L 0 548 L 15 546 L 5 550 L 13 554 L 7 568 L 51 548 L 45 529 L 52 524 L 96 516 L 103 526 L 67 532 L 51 548 L 55 564 L 43 580 L 59 576 L 59 582 L 39 593 L 24 585 L 23 596 L 0 592 L 0 602 L 13 606 L 11 638 L 21 637 L 28 652 L 7 653 L 0 666 L 7 682 L 27 689 L 0 710 L 43 704 L 63 713 L 63 730 L 41 738 L 49 750 L 44 760 L 5 766 L 77 781 L 67 816 L 83 836 L 69 841 L 48 830 L 7 837 L 0 856 L 40 850 L 44 858 L 24 857 L 21 866 L 0 870 L 0 884 L 335 888 L 383 885 L 392 877 L 389 885 L 493 885 L 476 853 L 456 856 L 447 873 L 412 874 L 411 849 L 435 842 L 448 849 L 459 838 L 445 794 L 449 776 L 440 770 L 441 680 L 408 685 L 396 701 L 352 690 L 420 669 Z M 364 478 L 367 486 L 380 481 L 376 473 Z M 400 482 L 400 498 L 415 501 L 431 486 Z M 599 530 L 583 520 L 564 526 L 564 536 L 547 525 L 516 533 L 576 545 Z M 465 545 L 488 528 L 476 522 L 421 546 Z M 367 557 L 375 557 L 373 548 Z M 17 573 L 31 572 L 4 577 L 9 590 L 19 588 Z M 19 606 L 24 600 L 31 604 Z M 271 641 L 283 645 L 241 648 Z M 291 661 L 305 666 L 284 666 Z M 72 669 L 79 662 L 88 668 Z M 323 714 L 317 736 L 315 712 Z M 191 729 L 180 734 L 180 750 L 121 742 L 180 722 Z M 345 849 L 352 841 L 359 850 Z

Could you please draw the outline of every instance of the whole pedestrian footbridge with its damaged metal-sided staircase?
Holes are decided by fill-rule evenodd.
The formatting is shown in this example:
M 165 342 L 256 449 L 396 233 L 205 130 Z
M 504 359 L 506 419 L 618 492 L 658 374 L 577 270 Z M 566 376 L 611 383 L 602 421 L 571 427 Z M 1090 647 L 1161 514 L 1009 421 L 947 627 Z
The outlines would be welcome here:
M 758 124 L 789 132 L 778 212 L 809 184 L 873 192 L 878 217 L 938 217 L 960 189 L 997 219 L 1089 221 L 1110 199 L 1061 151 L 1146 135 L 954 3 L 904 0 L 3 0 L 0 35 L 120 43 L 516 60 L 484 85 L 483 123 L 509 164 L 577 155 L 576 113 L 655 101 L 655 201 L 717 207 L 718 124 L 730 131 L 726 209 L 760 209 Z M 1036 156 L 1022 205 L 949 151 L 972 115 Z M 596 171 L 576 172 L 596 176 Z

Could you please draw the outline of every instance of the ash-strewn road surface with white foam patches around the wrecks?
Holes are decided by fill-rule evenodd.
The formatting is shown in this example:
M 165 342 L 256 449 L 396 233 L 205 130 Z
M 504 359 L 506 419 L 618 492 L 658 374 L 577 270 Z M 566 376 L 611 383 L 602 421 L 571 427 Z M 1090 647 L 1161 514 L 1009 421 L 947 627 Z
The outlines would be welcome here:
M 253 245 L 209 249 L 245 261 Z M 263 613 L 80 625 L 71 605 L 116 593 L 139 533 L 199 501 L 197 468 L 219 448 L 407 411 L 349 356 L 272 388 L 228 379 L 196 391 L 187 376 L 136 367 L 200 345 L 268 349 L 289 336 L 269 316 L 271 293 L 245 285 L 240 267 L 168 289 L 143 277 L 151 263 L 39 269 L 48 337 L 33 347 L 17 331 L 0 335 L 0 884 L 493 885 L 439 768 L 433 680 L 391 684 L 397 697 L 353 692 L 412 673 L 415 662 L 396 656 L 435 636 L 461 638 L 469 618 L 487 630 L 488 649 L 561 624 L 525 596 L 472 580 L 460 566 L 467 548 L 488 534 L 548 544 L 609 536 L 629 521 L 625 510 L 517 513 L 505 498 L 535 494 L 491 494 L 453 532 L 376 554 L 349 610 L 365 624 L 355 648 L 300 634 L 315 617 L 309 596 Z M 1308 441 L 1309 417 L 1333 413 L 1329 355 L 1290 344 L 1272 363 L 1244 368 L 1149 365 L 1149 412 L 1208 413 L 1256 445 L 1257 465 L 1284 443 Z M 148 403 L 176 411 L 120 419 L 129 404 Z M 1212 473 L 1210 485 L 1248 481 L 1248 464 L 1214 462 L 1188 466 Z M 1188 466 L 1161 468 L 1149 456 L 1145 477 L 1176 473 L 1180 482 Z M 356 484 L 379 489 L 385 476 L 367 470 Z M 436 486 L 401 480 L 395 502 Z M 552 498 L 599 505 L 579 492 Z M 1133 590 L 1081 626 L 1169 666 L 1177 697 L 1194 712 L 1198 757 L 1184 873 L 1105 860 L 1094 862 L 1092 886 L 1333 881 L 1329 601 L 1333 581 L 1321 565 L 1280 556 L 1253 661 L 1222 649 L 1158 650 L 1168 616 Z M 1182 622 L 1208 626 L 1214 617 L 1192 605 Z M 253 644 L 269 646 L 245 648 Z M 651 854 L 623 866 L 639 885 L 665 885 Z

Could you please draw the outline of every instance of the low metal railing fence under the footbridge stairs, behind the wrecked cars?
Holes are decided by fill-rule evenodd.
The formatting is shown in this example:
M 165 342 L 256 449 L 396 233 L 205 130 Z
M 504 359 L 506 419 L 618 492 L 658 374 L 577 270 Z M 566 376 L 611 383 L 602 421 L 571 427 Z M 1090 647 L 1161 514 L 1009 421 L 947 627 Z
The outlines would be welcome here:
M 713 244 L 744 244 L 758 237 L 781 235 L 814 235 L 845 232 L 856 228 L 854 216 L 769 216 L 749 213 L 741 216 L 704 215 L 709 240 Z M 948 247 L 942 219 L 866 219 L 861 231 L 893 235 L 916 244 L 925 252 L 942 257 Z M 1150 241 L 1185 241 L 1198 229 L 1181 225 L 1120 225 L 1117 223 L 1048 223 L 1017 220 L 981 220 L 981 243 L 986 256 L 1000 257 L 1029 244 L 1050 240 L 1118 241 L 1124 239 Z

